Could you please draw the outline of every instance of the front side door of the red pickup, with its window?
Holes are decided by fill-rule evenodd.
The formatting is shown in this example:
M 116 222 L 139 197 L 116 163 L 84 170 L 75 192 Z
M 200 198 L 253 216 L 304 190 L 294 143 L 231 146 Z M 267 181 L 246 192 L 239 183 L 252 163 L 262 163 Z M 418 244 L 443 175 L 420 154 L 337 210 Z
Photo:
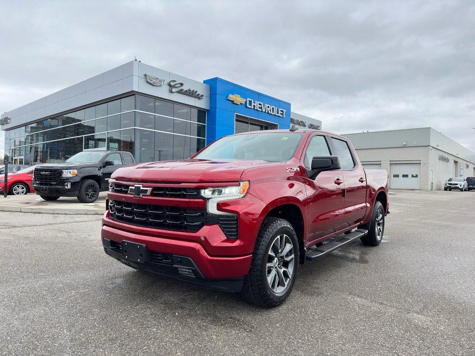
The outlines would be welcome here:
M 301 162 L 306 170 L 310 170 L 315 156 L 331 156 L 327 136 L 315 134 L 310 138 Z M 315 179 L 307 176 L 307 244 L 334 233 L 343 224 L 343 183 L 340 171 L 321 172 Z

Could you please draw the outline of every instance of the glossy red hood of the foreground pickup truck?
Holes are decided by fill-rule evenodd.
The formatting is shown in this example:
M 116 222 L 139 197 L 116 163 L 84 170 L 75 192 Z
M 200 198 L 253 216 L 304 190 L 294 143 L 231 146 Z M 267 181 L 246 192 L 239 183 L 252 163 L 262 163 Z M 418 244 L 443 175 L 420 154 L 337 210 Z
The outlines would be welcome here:
M 114 179 L 147 182 L 212 183 L 239 181 L 246 169 L 275 163 L 239 160 L 181 160 L 144 163 L 124 167 Z

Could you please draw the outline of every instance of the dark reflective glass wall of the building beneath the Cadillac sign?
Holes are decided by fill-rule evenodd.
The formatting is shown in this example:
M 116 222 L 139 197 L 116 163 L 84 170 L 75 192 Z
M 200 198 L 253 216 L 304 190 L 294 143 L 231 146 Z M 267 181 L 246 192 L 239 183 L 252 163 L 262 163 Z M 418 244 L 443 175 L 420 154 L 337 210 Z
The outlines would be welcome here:
M 105 147 L 143 163 L 191 157 L 205 139 L 204 110 L 135 94 L 6 131 L 5 151 L 34 165 Z

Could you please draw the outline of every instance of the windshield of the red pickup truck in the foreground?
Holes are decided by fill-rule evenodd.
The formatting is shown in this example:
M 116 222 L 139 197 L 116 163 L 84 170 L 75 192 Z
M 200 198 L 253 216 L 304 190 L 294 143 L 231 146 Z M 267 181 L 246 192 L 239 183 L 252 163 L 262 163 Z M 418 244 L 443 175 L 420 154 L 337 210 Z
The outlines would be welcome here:
M 292 132 L 260 132 L 227 136 L 205 148 L 195 158 L 284 162 L 294 157 L 303 135 Z

